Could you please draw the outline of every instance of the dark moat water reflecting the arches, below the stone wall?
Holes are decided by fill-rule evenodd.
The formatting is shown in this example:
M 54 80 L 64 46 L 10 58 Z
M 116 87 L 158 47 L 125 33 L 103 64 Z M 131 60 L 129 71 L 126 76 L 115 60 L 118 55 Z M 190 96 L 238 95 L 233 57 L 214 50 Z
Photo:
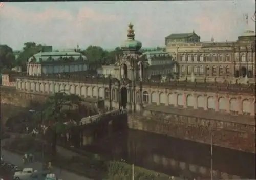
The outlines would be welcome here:
M 1 110 L 6 118 L 18 107 L 2 105 Z M 206 144 L 126 129 L 106 134 L 84 149 L 173 176 L 210 178 L 210 145 Z M 213 148 L 215 179 L 254 179 L 255 163 L 253 153 Z

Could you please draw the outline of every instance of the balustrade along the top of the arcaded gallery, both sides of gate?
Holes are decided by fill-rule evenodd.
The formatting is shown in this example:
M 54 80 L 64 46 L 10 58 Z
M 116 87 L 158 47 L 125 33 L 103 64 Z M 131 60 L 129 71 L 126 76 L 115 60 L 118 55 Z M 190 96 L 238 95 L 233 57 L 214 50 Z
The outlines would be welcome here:
M 122 80 L 116 78 L 106 78 L 102 76 L 86 76 L 81 74 L 49 74 L 41 76 L 29 76 L 29 75 L 18 75 L 16 78 L 32 79 L 32 80 L 56 80 L 56 81 L 68 81 L 68 82 L 84 82 L 89 84 L 115 84 L 120 85 Z M 127 81 L 131 83 L 131 81 Z M 158 88 L 168 88 L 168 89 L 193 89 L 202 90 L 207 92 L 233 92 L 233 93 L 251 93 L 254 94 L 256 91 L 255 84 L 227 84 L 218 82 L 189 82 L 189 81 L 172 81 L 172 82 L 153 82 L 153 81 L 136 81 L 136 85 L 158 87 Z

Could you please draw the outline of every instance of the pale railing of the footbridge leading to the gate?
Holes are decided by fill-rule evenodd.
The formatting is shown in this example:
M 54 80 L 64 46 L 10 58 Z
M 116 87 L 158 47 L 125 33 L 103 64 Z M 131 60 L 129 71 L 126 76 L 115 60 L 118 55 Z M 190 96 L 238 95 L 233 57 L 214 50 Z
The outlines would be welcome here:
M 91 117 L 82 118 L 81 121 L 80 121 L 80 126 L 100 121 L 100 119 L 103 118 L 103 117 L 122 115 L 122 114 L 126 114 L 126 113 L 127 113 L 126 109 L 112 110 L 112 111 L 108 111 L 106 113 L 103 113 L 102 115 L 94 115 L 94 116 L 91 116 Z

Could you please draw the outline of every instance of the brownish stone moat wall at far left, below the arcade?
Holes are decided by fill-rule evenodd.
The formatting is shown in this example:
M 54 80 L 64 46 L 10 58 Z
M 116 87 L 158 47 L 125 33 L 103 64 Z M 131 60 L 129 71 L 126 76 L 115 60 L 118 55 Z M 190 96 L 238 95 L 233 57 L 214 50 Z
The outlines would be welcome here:
M 17 91 L 14 87 L 0 87 L 1 104 L 10 104 L 20 107 L 28 107 L 31 102 L 44 102 L 48 97 L 41 93 L 28 93 Z

